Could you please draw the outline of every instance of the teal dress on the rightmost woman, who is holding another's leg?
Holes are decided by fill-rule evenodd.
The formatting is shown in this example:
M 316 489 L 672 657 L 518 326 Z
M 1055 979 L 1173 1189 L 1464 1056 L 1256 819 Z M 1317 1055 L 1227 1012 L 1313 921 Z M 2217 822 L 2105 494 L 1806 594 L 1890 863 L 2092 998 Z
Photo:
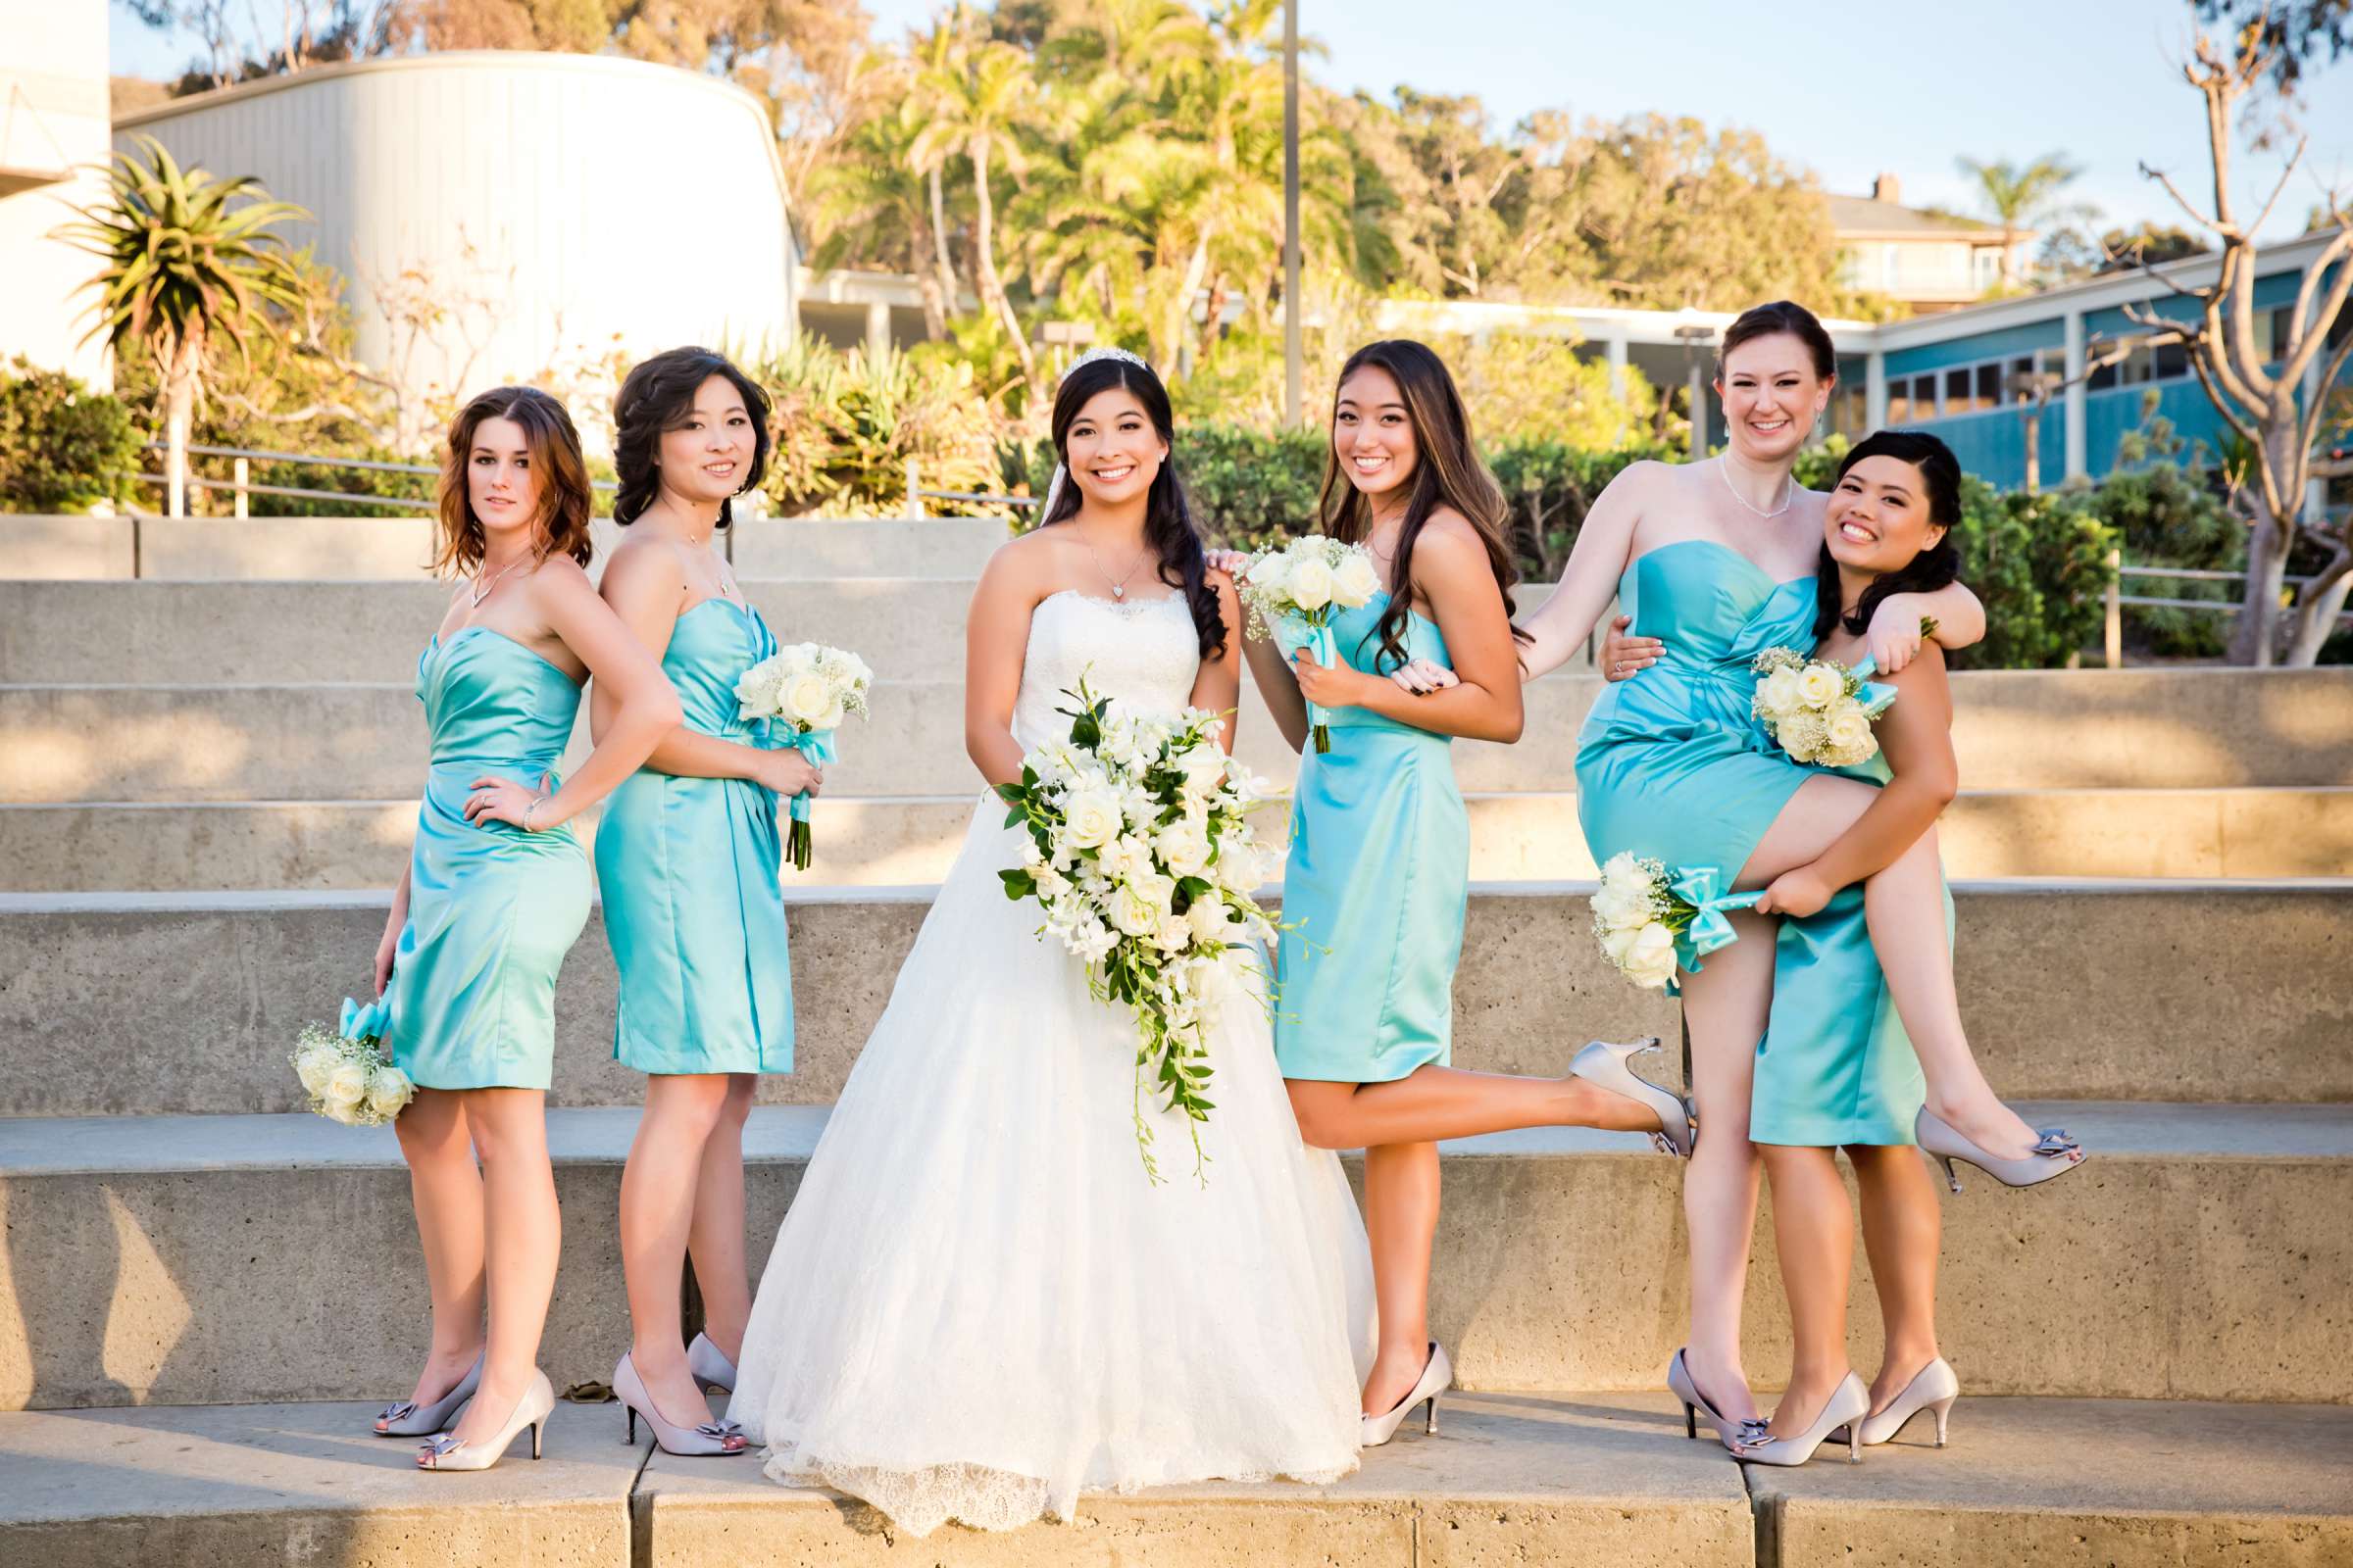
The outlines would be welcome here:
M 1871 661 L 1859 668 L 1868 675 Z M 1885 785 L 1887 757 L 1817 771 Z M 1951 943 L 1951 889 L 1944 931 Z M 1809 1150 L 1913 1143 L 1913 1117 L 1925 1100 L 1920 1058 L 1871 947 L 1864 886 L 1842 886 L 1814 914 L 1784 919 L 1772 954 L 1772 1020 L 1748 1098 L 1748 1140 Z

